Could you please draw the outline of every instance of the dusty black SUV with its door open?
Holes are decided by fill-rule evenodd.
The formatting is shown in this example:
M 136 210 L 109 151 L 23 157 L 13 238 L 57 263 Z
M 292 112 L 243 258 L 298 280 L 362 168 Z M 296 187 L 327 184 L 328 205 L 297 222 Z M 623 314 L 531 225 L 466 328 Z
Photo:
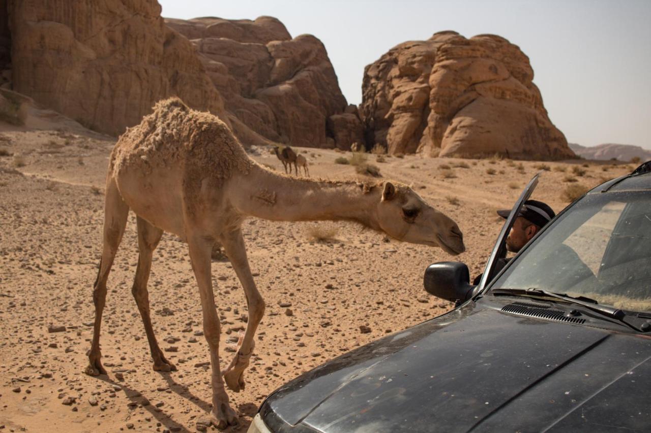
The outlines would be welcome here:
M 288 382 L 249 432 L 651 431 L 651 161 L 566 207 L 499 273 L 436 263 L 445 315 Z

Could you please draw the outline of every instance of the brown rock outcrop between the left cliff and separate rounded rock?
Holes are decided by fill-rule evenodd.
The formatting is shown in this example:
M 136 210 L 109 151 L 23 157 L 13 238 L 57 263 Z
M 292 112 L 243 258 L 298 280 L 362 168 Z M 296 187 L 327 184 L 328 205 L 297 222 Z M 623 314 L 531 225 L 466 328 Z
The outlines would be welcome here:
M 326 48 L 314 36 L 292 38 L 271 17 L 165 22 L 197 47 L 236 133 L 245 125 L 275 142 L 342 149 L 361 137 L 359 116 L 346 111 Z

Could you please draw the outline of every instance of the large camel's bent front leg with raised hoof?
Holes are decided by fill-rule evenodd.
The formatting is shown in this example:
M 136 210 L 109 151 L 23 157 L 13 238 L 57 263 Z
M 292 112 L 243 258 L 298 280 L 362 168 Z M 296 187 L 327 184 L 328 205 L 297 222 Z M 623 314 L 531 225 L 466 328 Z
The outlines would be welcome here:
M 249 261 L 246 257 L 244 239 L 242 230 L 238 229 L 223 235 L 222 243 L 229 256 L 230 263 L 233 266 L 246 295 L 247 305 L 249 306 L 249 321 L 247 322 L 246 332 L 242 339 L 242 345 L 238 348 L 235 358 L 231 361 L 229 368 L 224 373 L 226 385 L 233 391 L 239 392 L 244 389 L 244 370 L 249 365 L 249 359 L 253 354 L 253 337 L 258 324 L 262 321 L 264 315 L 264 300 L 258 292 L 258 288 L 253 282 Z

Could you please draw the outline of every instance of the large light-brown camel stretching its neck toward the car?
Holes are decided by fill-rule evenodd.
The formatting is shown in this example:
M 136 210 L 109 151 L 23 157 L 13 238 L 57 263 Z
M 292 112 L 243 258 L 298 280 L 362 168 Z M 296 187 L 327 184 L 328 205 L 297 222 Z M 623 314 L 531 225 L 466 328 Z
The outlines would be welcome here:
M 163 231 L 177 235 L 188 245 L 201 297 L 204 337 L 210 349 L 210 419 L 217 428 L 238 423 L 225 385 L 234 392 L 244 389 L 243 373 L 265 309 L 247 260 L 241 228 L 245 218 L 348 220 L 400 241 L 441 247 L 449 254 L 465 250 L 457 224 L 406 185 L 279 174 L 249 158 L 217 117 L 191 110 L 178 98 L 159 101 L 152 114 L 118 139 L 109 159 L 102 258 L 92 293 L 95 319 L 85 371 L 92 376 L 106 374 L 100 361 L 106 282 L 130 209 L 137 217 L 139 246 L 132 294 L 143 319 L 154 371 L 174 371 L 176 367 L 163 355 L 152 328 L 147 291 L 152 254 Z M 215 241 L 225 248 L 249 309 L 238 351 L 223 373 L 218 352 L 220 323 L 210 274 Z

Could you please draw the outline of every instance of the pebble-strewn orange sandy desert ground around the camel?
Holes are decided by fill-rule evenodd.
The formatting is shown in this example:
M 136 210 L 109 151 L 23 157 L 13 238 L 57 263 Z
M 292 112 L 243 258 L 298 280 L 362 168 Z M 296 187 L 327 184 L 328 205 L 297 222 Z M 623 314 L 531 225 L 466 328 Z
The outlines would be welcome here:
M 210 410 L 210 371 L 186 245 L 163 236 L 149 285 L 154 329 L 178 371 L 152 371 L 131 295 L 137 244 L 135 217 L 130 215 L 109 277 L 102 327 L 109 374 L 83 374 L 92 337 L 104 176 L 115 140 L 83 131 L 1 130 L 0 429 L 197 430 L 197 421 Z M 300 151 L 305 151 L 313 177 L 357 176 L 353 166 L 334 163 L 350 153 Z M 266 151 L 251 156 L 282 170 Z M 255 359 L 245 373 L 247 387 L 229 393 L 241 423 L 229 431 L 245 431 L 264 397 L 283 382 L 353 347 L 449 311 L 449 302 L 422 289 L 424 269 L 436 261 L 460 260 L 472 276 L 480 272 L 503 222 L 495 209 L 511 207 L 540 165 L 524 162 L 520 169 L 517 161 L 374 159 L 369 155 L 383 179 L 413 183 L 428 202 L 454 218 L 464 232 L 467 252 L 452 257 L 438 248 L 396 243 L 346 223 L 247 220 L 243 231 L 249 261 L 268 308 L 258 328 Z M 561 191 L 570 185 L 565 177 L 592 186 L 633 168 L 583 163 L 546 163 L 551 170 L 543 171 L 534 198 L 560 211 L 566 205 Z M 445 164 L 456 177 L 445 177 Z M 585 174 L 573 175 L 575 166 Z M 315 228 L 330 230 L 331 239 L 314 241 Z M 213 276 L 224 368 L 244 329 L 247 309 L 226 259 L 213 262 Z M 293 315 L 280 303 L 290 303 Z M 361 325 L 370 333 L 362 334 Z M 51 326 L 64 330 L 49 332 L 56 330 Z

